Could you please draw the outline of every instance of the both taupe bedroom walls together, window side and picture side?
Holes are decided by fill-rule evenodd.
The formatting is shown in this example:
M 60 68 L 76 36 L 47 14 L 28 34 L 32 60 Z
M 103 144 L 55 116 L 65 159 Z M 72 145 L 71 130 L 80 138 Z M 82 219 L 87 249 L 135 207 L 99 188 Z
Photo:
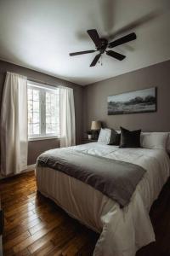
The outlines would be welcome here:
M 49 84 L 62 84 L 73 88 L 77 143 L 81 142 L 82 131 L 87 131 L 90 128 L 93 119 L 99 119 L 105 122 L 108 127 L 115 129 L 119 129 L 119 126 L 122 125 L 129 129 L 142 128 L 143 131 L 170 131 L 170 61 L 145 67 L 99 83 L 89 84 L 85 87 L 25 67 L 0 61 L 0 102 L 7 71 L 26 75 L 28 79 L 37 79 Z M 157 87 L 156 113 L 107 115 L 107 96 L 152 86 Z M 82 124 L 84 125 L 82 126 Z M 43 151 L 57 147 L 59 147 L 58 139 L 29 142 L 28 165 L 34 164 L 37 156 Z

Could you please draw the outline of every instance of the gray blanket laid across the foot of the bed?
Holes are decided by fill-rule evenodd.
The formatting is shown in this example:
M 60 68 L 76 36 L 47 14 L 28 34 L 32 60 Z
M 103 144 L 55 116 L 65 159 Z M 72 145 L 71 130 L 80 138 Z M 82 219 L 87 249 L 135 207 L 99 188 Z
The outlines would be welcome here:
M 127 206 L 145 170 L 119 160 L 83 154 L 71 148 L 48 150 L 37 159 L 37 166 L 47 166 L 75 177 L 104 195 Z

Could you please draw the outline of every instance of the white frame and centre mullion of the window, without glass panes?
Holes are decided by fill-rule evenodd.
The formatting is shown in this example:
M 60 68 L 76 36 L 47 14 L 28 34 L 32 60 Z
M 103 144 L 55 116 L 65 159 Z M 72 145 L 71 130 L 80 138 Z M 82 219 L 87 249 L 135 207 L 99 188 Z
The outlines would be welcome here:
M 28 141 L 37 141 L 37 140 L 46 140 L 59 138 L 57 133 L 46 133 L 46 92 L 53 91 L 58 94 L 59 86 L 50 86 L 47 84 L 40 84 L 37 82 L 27 81 L 27 90 L 28 89 L 39 90 L 39 118 L 40 118 L 40 134 L 29 135 Z M 60 98 L 59 98 L 60 101 Z M 27 98 L 28 102 L 28 98 Z

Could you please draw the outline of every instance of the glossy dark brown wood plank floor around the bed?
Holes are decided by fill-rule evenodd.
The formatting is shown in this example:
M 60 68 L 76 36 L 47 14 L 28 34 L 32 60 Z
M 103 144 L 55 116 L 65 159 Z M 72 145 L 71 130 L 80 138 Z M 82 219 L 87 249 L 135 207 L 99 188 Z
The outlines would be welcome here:
M 4 255 L 92 255 L 99 236 L 37 193 L 33 172 L 3 180 L 0 187 L 5 213 Z M 169 182 L 151 208 L 150 218 L 156 242 L 140 249 L 136 256 L 170 256 Z

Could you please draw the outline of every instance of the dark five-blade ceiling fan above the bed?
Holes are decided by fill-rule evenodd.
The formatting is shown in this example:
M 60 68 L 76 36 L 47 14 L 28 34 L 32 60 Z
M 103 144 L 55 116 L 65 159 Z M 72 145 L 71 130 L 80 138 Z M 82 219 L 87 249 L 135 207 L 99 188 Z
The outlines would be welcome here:
M 99 38 L 99 34 L 96 29 L 89 29 L 87 32 L 90 38 L 94 41 L 96 49 L 73 52 L 73 53 L 70 53 L 70 56 L 84 55 L 88 53 L 93 53 L 95 51 L 99 51 L 99 54 L 95 55 L 94 60 L 90 64 L 90 67 L 94 67 L 96 63 L 99 61 L 99 58 L 101 57 L 101 55 L 103 55 L 104 53 L 106 53 L 106 55 L 109 55 L 119 61 L 122 61 L 126 56 L 111 50 L 111 48 L 133 41 L 134 39 L 137 38 L 136 34 L 133 32 L 128 34 L 127 36 L 116 39 L 115 41 L 109 43 L 107 39 Z M 109 48 L 109 50 L 107 48 Z

